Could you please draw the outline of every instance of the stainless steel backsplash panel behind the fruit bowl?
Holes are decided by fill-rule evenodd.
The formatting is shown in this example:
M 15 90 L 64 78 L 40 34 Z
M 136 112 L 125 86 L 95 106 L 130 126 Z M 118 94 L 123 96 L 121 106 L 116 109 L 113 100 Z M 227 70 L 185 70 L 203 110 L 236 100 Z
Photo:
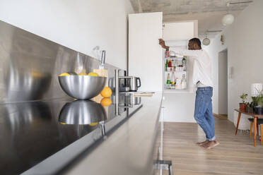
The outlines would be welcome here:
M 0 104 L 65 97 L 60 73 L 89 73 L 99 64 L 98 59 L 0 20 Z M 105 68 L 113 91 L 117 67 L 105 64 Z

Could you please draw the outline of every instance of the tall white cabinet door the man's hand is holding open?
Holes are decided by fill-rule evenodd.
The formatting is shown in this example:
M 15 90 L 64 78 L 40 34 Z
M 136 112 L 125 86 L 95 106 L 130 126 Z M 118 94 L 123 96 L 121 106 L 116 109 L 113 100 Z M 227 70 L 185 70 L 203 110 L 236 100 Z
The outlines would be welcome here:
M 163 90 L 163 13 L 129 14 L 129 76 L 141 78 L 139 91 Z

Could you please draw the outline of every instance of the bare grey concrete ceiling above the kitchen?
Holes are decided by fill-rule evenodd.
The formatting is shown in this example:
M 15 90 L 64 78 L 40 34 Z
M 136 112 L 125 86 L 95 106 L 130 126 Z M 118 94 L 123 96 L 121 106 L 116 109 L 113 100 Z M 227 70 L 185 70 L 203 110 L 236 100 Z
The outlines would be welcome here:
M 163 11 L 163 22 L 180 20 L 198 20 L 199 37 L 204 37 L 207 30 L 223 30 L 221 20 L 226 13 L 237 17 L 250 3 L 233 4 L 247 0 L 130 0 L 135 13 Z M 214 37 L 218 32 L 209 32 Z

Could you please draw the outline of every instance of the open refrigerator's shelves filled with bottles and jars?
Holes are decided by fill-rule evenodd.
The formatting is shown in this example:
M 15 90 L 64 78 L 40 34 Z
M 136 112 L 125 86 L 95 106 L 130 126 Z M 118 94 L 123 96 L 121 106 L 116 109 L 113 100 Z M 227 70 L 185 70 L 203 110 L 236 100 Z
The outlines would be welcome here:
M 163 90 L 183 92 L 189 90 L 189 59 L 172 51 L 163 52 Z

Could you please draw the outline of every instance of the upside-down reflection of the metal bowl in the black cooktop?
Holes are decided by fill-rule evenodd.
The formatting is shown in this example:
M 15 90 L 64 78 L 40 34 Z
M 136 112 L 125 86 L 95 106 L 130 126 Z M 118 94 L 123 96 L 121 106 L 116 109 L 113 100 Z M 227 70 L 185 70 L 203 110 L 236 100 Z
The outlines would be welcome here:
M 104 107 L 91 100 L 66 103 L 59 114 L 59 121 L 66 124 L 86 125 L 106 119 L 107 114 Z

